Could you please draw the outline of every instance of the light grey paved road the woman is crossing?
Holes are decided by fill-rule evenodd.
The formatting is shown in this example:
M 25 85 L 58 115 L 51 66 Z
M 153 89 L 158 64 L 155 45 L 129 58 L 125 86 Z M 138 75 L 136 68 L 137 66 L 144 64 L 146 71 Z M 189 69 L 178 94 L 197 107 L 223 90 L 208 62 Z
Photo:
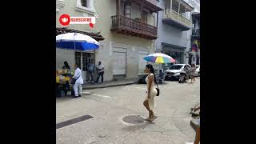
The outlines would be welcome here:
M 89 114 L 94 118 L 56 130 L 58 144 L 185 144 L 194 140 L 190 126 L 190 107 L 200 101 L 200 82 L 166 82 L 155 98 L 154 122 L 127 124 L 129 115 L 147 117 L 142 105 L 146 85 L 84 90 L 82 98 L 57 98 L 57 122 Z

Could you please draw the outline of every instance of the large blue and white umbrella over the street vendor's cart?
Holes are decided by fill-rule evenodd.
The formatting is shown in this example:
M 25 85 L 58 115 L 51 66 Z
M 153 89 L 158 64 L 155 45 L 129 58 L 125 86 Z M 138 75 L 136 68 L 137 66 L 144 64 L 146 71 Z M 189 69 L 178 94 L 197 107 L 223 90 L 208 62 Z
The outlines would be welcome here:
M 66 33 L 56 36 L 56 46 L 70 50 L 96 50 L 100 43 L 86 34 Z

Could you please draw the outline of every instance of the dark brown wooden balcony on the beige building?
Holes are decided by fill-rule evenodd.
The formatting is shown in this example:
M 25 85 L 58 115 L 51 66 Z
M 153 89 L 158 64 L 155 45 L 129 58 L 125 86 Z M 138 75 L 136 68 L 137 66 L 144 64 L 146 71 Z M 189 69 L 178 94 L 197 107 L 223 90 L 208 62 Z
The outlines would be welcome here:
M 119 34 L 126 34 L 139 38 L 156 39 L 158 38 L 158 29 L 144 22 L 134 20 L 122 15 L 112 16 L 112 27 L 110 30 Z

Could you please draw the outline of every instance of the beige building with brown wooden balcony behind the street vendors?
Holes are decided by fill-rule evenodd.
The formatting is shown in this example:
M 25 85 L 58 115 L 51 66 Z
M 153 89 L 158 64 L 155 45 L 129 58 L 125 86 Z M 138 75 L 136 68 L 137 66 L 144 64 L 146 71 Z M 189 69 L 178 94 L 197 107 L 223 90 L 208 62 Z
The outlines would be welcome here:
M 61 26 L 61 14 L 94 16 L 94 28 L 89 25 L 69 25 L 66 29 L 81 30 L 94 35 L 101 43 L 100 49 L 90 52 L 56 49 L 56 68 L 64 61 L 70 66 L 80 63 L 83 77 L 88 80 L 86 65 L 91 59 L 105 66 L 104 81 L 114 78 L 138 78 L 145 69 L 142 58 L 153 53 L 157 35 L 157 12 L 162 10 L 156 0 L 57 0 L 56 26 Z M 101 35 L 99 35 L 100 33 Z M 103 37 L 103 38 L 102 38 Z

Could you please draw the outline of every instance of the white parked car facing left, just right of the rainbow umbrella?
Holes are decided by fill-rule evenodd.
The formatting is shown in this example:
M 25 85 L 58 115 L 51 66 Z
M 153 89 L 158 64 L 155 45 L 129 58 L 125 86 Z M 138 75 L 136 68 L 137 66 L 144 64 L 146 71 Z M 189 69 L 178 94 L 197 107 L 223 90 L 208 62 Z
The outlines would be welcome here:
M 166 80 L 168 79 L 178 79 L 180 77 L 180 73 L 184 70 L 185 66 L 190 66 L 188 64 L 174 64 L 170 66 L 169 70 L 166 70 Z M 191 66 L 190 66 L 191 67 Z

